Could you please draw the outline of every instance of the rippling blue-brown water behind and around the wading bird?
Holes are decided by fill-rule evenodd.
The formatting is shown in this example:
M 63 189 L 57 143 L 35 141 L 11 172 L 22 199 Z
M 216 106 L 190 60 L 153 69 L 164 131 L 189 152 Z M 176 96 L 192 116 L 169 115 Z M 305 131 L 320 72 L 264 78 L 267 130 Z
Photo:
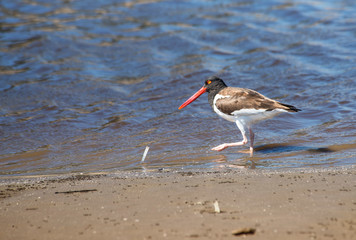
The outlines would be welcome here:
M 355 12 L 331 0 L 3 1 L 0 176 L 354 165 Z M 211 75 L 303 111 L 255 126 L 252 159 L 210 151 L 239 141 L 236 126 L 207 95 L 177 108 Z

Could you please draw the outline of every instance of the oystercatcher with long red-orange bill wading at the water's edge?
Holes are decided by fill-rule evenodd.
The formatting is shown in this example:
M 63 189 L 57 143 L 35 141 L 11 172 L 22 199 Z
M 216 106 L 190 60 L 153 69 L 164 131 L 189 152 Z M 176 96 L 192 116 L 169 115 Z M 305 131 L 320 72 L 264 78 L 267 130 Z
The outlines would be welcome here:
M 280 103 L 247 88 L 228 87 L 216 76 L 205 81 L 204 86 L 185 101 L 178 109 L 182 109 L 203 93 L 208 92 L 210 106 L 220 117 L 235 122 L 242 134 L 241 142 L 223 143 L 212 148 L 221 151 L 228 147 L 241 146 L 247 143 L 246 130 L 250 134 L 250 155 L 253 156 L 254 133 L 251 125 L 266 120 L 282 112 L 298 112 L 300 109 Z

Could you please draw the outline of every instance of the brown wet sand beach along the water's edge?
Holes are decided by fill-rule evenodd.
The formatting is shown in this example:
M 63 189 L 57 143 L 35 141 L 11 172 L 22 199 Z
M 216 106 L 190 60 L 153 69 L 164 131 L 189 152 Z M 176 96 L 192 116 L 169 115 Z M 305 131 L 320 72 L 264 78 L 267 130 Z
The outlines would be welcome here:
M 0 239 L 355 239 L 355 175 L 353 167 L 1 179 Z

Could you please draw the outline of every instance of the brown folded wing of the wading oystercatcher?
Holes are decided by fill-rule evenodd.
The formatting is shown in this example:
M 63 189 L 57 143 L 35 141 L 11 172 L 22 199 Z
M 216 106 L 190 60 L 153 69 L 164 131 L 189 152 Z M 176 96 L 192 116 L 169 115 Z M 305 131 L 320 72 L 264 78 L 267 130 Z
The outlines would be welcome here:
M 228 115 L 241 109 L 262 109 L 265 111 L 284 109 L 292 112 L 299 111 L 299 109 L 291 105 L 279 103 L 251 89 L 227 87 L 221 90 L 219 94 L 229 96 L 216 101 L 216 107 Z

